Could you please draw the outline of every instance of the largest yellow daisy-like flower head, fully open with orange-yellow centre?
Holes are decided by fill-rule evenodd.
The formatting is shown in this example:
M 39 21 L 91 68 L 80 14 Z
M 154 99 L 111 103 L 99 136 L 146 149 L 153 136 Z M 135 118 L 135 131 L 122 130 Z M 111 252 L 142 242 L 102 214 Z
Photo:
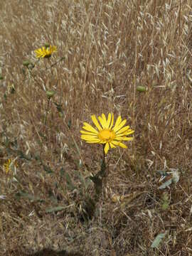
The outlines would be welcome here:
M 91 118 L 97 129 L 84 122 L 82 129 L 85 129 L 85 131 L 80 131 L 81 139 L 84 139 L 87 143 L 105 144 L 105 154 L 107 154 L 110 147 L 115 148 L 116 146 L 121 146 L 126 149 L 127 146 L 122 141 L 131 141 L 133 139 L 133 137 L 127 137 L 127 135 L 133 134 L 134 130 L 130 129 L 128 125 L 124 127 L 127 120 L 124 119 L 122 121 L 121 116 L 117 118 L 114 127 L 112 127 L 114 114 L 108 114 L 108 118 L 105 117 L 105 114 L 102 114 L 101 117 L 98 117 L 100 123 L 97 121 L 95 114 Z

